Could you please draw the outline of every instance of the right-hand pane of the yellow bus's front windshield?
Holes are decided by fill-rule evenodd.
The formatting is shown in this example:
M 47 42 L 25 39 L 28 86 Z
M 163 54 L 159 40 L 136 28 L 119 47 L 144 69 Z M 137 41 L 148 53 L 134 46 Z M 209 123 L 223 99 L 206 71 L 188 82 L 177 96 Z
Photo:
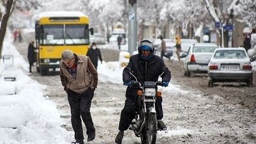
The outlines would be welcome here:
M 65 42 L 67 45 L 89 44 L 88 25 L 66 24 L 65 32 Z

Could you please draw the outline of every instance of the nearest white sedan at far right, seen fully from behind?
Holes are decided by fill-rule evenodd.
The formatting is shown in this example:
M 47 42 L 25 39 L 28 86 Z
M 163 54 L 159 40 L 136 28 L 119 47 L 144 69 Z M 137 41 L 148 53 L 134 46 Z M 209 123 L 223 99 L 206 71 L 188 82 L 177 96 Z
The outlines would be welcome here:
M 216 49 L 208 67 L 209 87 L 215 82 L 244 82 L 252 86 L 252 65 L 243 47 Z

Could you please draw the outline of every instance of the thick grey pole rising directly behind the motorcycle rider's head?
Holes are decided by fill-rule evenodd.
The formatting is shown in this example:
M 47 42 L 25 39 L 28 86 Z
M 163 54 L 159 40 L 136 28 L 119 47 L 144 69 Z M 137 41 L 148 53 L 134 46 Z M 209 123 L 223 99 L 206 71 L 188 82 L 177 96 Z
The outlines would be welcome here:
M 137 46 L 137 0 L 129 0 L 128 50 L 132 54 Z

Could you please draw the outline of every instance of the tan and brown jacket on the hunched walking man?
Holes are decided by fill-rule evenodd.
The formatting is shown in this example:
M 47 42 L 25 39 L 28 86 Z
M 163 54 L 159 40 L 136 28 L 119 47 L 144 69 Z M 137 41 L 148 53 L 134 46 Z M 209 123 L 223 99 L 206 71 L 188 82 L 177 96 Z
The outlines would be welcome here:
M 78 56 L 75 54 L 75 57 L 77 61 L 76 77 L 72 77 L 65 63 L 62 60 L 60 61 L 60 79 L 64 90 L 67 92 L 70 89 L 81 94 L 88 88 L 97 88 L 98 74 L 92 61 L 87 56 Z

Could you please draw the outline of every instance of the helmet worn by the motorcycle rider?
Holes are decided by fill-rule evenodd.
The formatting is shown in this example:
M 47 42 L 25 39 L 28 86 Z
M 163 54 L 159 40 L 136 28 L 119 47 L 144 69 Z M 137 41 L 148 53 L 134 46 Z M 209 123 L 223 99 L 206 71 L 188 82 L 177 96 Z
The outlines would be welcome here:
M 148 40 L 148 39 L 141 40 L 140 44 L 138 45 L 138 52 L 140 54 L 140 58 L 142 60 L 150 60 L 154 55 L 154 49 L 155 49 L 155 47 L 150 40 Z M 143 50 L 150 51 L 150 54 L 148 57 L 143 56 L 143 54 L 142 54 Z

